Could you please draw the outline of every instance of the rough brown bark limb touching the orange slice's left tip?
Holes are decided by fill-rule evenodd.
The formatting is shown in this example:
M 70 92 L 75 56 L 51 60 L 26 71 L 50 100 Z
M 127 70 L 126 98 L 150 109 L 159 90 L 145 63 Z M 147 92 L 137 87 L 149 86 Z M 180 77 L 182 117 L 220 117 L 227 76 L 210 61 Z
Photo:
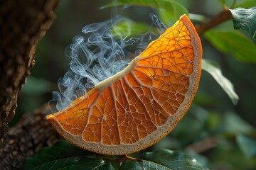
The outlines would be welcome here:
M 23 115 L 9 130 L 0 145 L 0 169 L 19 169 L 27 157 L 59 139 L 58 133 L 46 120 L 48 114 L 48 106 L 42 106 L 33 113 Z

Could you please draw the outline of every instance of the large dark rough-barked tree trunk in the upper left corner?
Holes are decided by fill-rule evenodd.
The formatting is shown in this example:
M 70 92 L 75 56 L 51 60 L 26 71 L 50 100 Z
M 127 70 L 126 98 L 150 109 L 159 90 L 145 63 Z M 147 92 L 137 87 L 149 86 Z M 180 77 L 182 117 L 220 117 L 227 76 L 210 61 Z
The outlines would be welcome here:
M 0 1 L 0 140 L 14 117 L 36 45 L 50 27 L 58 0 Z

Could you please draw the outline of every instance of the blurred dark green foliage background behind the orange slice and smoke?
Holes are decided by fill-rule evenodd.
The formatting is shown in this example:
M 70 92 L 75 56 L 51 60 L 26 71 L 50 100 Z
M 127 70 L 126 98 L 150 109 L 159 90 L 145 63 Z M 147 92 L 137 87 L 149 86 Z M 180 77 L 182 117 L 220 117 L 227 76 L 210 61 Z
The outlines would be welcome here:
M 18 120 L 19 114 L 48 102 L 51 92 L 58 90 L 56 82 L 68 70 L 69 60 L 64 55 L 65 47 L 89 23 L 105 21 L 119 14 L 130 18 L 132 24 L 142 24 L 139 25 L 141 27 L 136 25 L 139 29 L 152 25 L 149 13 L 159 12 L 164 23 L 171 26 L 174 18 L 189 12 L 188 16 L 195 18 L 194 23 L 200 24 L 215 16 L 223 6 L 233 9 L 256 6 L 254 0 L 238 0 L 235 4 L 232 0 L 165 0 L 154 1 L 158 3 L 154 5 L 146 0 L 120 0 L 112 1 L 109 6 L 116 6 L 121 2 L 118 7 L 100 10 L 100 7 L 107 5 L 106 1 L 60 1 L 56 11 L 57 18 L 38 46 L 36 65 L 21 91 L 17 118 L 13 124 Z M 135 2 L 142 4 L 134 6 Z M 166 5 L 168 3 L 171 8 Z M 174 9 L 174 6 L 178 6 L 175 7 L 178 14 L 171 15 L 169 9 Z M 253 33 L 255 28 L 251 29 Z M 192 155 L 210 169 L 256 169 L 255 41 L 252 36 L 234 30 L 232 21 L 208 30 L 201 35 L 201 40 L 203 59 L 218 63 L 224 77 L 233 83 L 240 98 L 238 104 L 234 106 L 215 79 L 202 72 L 198 92 L 186 116 L 168 136 L 143 152 L 173 149 Z M 139 157 L 141 153 L 134 156 Z M 107 166 L 110 167 L 109 164 Z

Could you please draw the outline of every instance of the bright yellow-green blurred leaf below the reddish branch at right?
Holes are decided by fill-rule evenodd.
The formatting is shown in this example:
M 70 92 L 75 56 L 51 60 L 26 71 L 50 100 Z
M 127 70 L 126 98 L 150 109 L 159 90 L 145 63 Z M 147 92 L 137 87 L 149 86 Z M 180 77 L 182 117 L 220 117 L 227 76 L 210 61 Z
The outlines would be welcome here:
M 237 30 L 208 30 L 204 37 L 220 52 L 231 54 L 241 62 L 256 63 L 256 45 Z

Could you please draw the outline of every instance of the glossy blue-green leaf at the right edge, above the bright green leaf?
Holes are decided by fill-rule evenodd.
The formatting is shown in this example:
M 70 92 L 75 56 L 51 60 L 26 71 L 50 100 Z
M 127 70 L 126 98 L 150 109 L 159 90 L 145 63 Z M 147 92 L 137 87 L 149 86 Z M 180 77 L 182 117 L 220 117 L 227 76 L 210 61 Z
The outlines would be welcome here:
M 233 25 L 237 30 L 250 35 L 256 41 L 256 7 L 249 9 L 235 8 L 230 9 L 233 16 Z

